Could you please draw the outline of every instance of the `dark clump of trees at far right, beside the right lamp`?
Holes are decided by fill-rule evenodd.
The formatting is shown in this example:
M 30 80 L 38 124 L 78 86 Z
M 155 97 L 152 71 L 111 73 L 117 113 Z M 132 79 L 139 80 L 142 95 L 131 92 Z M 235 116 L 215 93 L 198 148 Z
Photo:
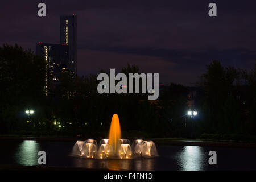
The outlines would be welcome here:
M 204 90 L 200 101 L 201 133 L 239 137 L 255 135 L 256 64 L 251 71 L 222 67 L 220 61 L 207 65 L 199 86 Z

